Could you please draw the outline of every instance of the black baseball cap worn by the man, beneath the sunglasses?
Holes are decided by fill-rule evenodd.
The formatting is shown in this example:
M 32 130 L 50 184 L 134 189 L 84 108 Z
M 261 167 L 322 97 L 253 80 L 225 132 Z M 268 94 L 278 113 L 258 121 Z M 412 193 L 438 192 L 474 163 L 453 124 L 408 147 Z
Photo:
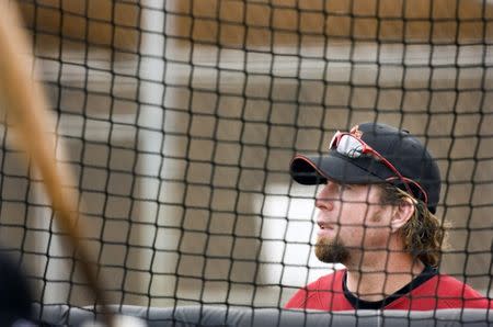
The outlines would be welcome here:
M 429 212 L 436 213 L 440 195 L 440 172 L 435 159 L 424 145 L 408 131 L 380 123 L 363 123 L 352 128 L 358 138 L 386 158 L 402 177 L 417 183 L 408 183 L 415 199 L 425 201 Z M 395 172 L 374 156 L 351 158 L 328 149 L 328 155 L 296 155 L 290 173 L 301 184 L 319 184 L 332 180 L 343 184 L 376 184 L 390 182 L 406 190 Z M 423 194 L 423 191 L 426 194 Z

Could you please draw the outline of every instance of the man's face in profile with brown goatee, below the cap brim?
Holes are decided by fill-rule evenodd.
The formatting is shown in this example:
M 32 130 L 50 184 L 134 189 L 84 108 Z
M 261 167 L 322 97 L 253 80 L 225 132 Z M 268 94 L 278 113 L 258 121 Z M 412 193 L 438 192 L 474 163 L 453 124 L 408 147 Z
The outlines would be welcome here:
M 376 185 L 341 185 L 329 181 L 317 195 L 316 255 L 323 262 L 359 262 L 365 253 L 386 250 L 391 207 L 380 204 Z

